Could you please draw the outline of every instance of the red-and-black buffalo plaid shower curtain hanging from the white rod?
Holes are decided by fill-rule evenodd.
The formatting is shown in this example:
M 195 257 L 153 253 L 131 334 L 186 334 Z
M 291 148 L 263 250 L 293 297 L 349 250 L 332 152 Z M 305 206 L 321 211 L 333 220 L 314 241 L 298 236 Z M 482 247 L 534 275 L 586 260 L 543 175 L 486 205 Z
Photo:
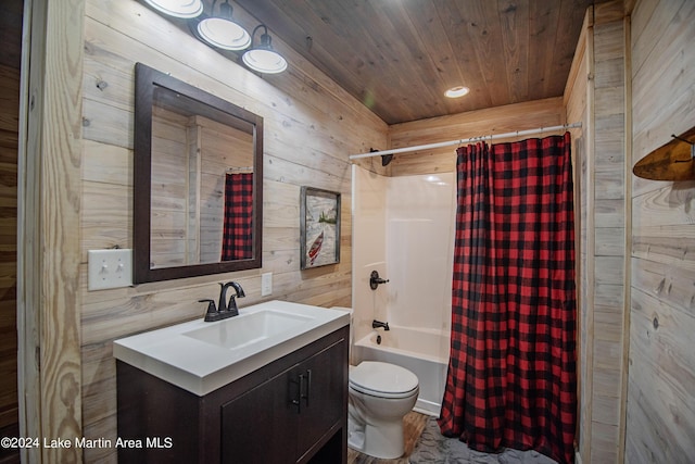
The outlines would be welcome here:
M 570 135 L 457 150 L 448 374 L 439 425 L 470 449 L 573 462 Z

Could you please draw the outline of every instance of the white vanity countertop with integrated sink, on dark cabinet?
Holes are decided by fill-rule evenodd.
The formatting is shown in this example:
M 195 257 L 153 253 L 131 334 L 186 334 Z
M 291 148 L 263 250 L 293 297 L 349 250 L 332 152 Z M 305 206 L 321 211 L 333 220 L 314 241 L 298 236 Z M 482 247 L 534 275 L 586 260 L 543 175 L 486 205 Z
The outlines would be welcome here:
M 268 301 L 115 340 L 113 355 L 202 397 L 349 324 L 343 311 Z

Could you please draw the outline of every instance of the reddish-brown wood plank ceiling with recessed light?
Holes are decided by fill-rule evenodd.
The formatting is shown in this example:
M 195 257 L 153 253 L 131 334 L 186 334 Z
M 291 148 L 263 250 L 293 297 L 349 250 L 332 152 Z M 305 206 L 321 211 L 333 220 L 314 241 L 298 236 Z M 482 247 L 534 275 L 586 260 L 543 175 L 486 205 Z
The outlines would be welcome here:
M 594 2 L 236 3 L 384 122 L 395 124 L 561 96 L 584 13 Z M 274 45 L 282 52 L 279 40 Z M 470 93 L 444 97 L 454 86 L 469 87 Z

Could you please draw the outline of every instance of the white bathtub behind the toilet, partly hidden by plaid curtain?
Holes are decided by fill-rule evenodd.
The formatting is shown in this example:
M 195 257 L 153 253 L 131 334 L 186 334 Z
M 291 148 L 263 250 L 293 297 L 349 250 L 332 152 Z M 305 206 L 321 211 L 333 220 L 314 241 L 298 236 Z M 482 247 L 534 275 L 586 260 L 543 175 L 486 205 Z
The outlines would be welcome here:
M 377 337 L 381 336 L 381 343 Z M 353 361 L 381 361 L 413 372 L 420 384 L 415 411 L 439 416 L 446 367 L 448 366 L 450 334 L 433 329 L 416 329 L 391 325 L 391 329 L 374 330 L 353 346 Z

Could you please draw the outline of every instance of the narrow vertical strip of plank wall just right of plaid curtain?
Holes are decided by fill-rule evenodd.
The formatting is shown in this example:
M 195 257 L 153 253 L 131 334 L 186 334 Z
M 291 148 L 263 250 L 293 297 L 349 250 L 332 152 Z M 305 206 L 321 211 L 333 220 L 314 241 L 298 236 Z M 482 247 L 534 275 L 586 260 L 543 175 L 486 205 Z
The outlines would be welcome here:
M 622 2 L 596 8 L 593 27 L 593 360 L 591 391 L 591 460 L 618 462 L 622 407 L 623 317 L 626 312 L 626 176 L 624 176 L 624 28 Z M 608 5 L 609 7 L 609 5 Z M 614 12 L 615 17 L 614 17 Z M 617 20 L 616 20 L 617 18 Z

